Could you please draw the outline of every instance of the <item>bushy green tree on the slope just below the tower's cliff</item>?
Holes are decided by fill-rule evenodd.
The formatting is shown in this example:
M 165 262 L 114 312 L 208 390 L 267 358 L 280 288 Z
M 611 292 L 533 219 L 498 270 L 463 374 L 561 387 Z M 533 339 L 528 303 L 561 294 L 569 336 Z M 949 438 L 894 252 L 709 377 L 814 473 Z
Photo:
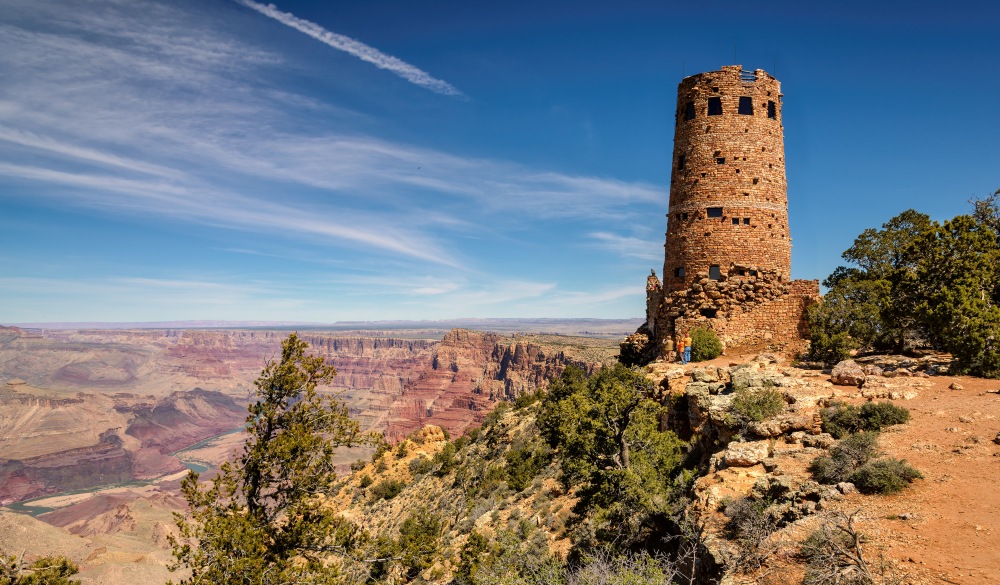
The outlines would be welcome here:
M 641 372 L 622 364 L 589 379 L 567 367 L 543 399 L 538 426 L 559 450 L 562 481 L 598 540 L 640 543 L 674 511 L 682 442 L 660 428 L 667 407 Z

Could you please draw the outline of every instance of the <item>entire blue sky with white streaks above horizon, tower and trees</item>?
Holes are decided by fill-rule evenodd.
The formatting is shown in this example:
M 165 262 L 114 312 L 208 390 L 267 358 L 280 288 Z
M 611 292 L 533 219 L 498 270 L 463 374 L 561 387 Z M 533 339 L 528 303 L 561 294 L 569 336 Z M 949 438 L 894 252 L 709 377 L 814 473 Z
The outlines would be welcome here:
M 734 63 L 796 278 L 1000 188 L 992 2 L 3 4 L 0 323 L 641 316 L 677 83 Z

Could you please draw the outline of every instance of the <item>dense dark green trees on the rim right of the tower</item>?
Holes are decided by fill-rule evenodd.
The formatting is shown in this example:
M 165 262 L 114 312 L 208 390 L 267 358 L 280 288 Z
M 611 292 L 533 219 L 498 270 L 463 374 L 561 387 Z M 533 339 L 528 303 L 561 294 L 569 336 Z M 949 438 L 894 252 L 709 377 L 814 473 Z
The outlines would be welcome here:
M 854 266 L 810 309 L 812 357 L 924 346 L 952 353 L 958 371 L 1000 376 L 998 197 L 943 223 L 910 209 L 862 232 L 843 254 Z

